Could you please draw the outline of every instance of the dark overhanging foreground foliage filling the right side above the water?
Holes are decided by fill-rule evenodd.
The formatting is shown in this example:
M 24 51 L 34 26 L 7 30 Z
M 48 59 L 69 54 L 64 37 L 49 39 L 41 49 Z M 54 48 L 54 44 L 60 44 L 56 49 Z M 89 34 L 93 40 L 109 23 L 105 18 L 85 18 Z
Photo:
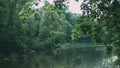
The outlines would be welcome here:
M 83 33 L 91 35 L 95 42 L 104 43 L 107 47 L 107 54 L 118 57 L 116 61 L 118 65 L 120 64 L 119 7 L 119 0 L 84 0 L 81 9 L 83 17 L 87 17 L 87 20 L 83 24 L 76 24 L 73 32 L 74 37 L 80 37 Z M 93 19 L 94 23 L 88 18 Z

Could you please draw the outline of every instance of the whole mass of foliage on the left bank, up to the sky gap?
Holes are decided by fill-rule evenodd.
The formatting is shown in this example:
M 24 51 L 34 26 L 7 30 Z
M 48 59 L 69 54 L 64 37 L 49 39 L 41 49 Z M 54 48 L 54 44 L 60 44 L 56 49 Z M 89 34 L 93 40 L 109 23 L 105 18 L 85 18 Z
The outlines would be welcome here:
M 36 1 L 0 0 L 0 58 L 32 50 L 51 52 L 59 44 L 70 42 L 73 21 L 66 17 L 65 5 L 59 0 L 55 5 L 44 3 L 34 8 Z

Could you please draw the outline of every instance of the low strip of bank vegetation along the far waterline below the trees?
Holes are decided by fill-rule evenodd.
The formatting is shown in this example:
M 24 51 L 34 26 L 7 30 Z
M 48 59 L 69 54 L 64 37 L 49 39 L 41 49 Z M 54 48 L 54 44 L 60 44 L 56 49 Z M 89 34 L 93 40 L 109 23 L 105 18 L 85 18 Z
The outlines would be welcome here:
M 93 48 L 95 49 L 95 47 L 97 48 L 101 48 L 101 47 L 104 47 L 103 44 L 101 43 L 97 43 L 97 44 L 93 44 L 93 43 L 64 43 L 64 44 L 58 44 L 57 45 L 58 48 L 55 48 L 54 50 L 51 50 L 51 51 L 47 51 L 47 49 L 45 50 L 34 50 L 34 49 L 31 49 L 27 52 L 23 52 L 22 54 L 19 54 L 19 53 L 13 53 L 13 54 L 10 54 L 9 56 L 2 56 L 2 54 L 0 54 L 0 60 L 5 60 L 5 61 L 17 61 L 17 59 L 22 59 L 24 58 L 24 56 L 26 54 L 34 54 L 34 53 L 56 53 L 57 50 L 69 50 L 69 49 L 86 49 L 86 48 Z

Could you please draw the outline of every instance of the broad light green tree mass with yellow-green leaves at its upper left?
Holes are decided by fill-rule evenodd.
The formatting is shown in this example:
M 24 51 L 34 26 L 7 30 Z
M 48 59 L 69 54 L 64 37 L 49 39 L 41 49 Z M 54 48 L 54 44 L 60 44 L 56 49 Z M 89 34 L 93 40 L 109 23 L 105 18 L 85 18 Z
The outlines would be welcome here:
M 67 30 L 71 25 L 61 10 L 47 1 L 39 9 L 32 8 L 31 2 L 24 6 L 20 18 L 28 25 L 28 48 L 51 50 L 56 45 L 67 42 L 67 36 L 70 36 Z

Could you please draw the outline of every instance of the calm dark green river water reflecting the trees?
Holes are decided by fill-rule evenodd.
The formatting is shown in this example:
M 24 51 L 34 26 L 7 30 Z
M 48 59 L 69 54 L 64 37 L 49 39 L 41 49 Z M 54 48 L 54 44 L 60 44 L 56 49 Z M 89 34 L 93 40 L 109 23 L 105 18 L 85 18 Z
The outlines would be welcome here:
M 0 68 L 102 68 L 104 50 L 94 47 L 31 53 L 22 59 L 0 60 Z

